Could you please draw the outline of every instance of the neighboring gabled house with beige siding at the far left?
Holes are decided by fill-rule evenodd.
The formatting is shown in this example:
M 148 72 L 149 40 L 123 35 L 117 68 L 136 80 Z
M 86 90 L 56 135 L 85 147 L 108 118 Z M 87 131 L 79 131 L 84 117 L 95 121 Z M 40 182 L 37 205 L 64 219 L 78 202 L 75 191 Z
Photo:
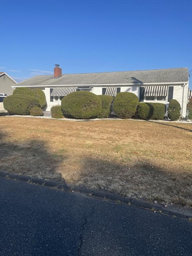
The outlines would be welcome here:
M 0 72 L 0 94 L 5 94 L 6 96 L 12 95 L 14 91 L 12 86 L 16 84 L 17 82 L 7 73 Z

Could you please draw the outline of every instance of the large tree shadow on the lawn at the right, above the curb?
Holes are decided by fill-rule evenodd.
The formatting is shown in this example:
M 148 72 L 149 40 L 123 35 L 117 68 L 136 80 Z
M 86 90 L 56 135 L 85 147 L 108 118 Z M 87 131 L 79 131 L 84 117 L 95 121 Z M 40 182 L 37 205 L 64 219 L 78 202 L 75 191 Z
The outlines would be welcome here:
M 152 167 L 153 166 L 153 167 Z M 65 174 L 62 176 L 65 178 Z M 88 158 L 83 160 L 74 183 L 92 189 L 106 189 L 127 197 L 180 203 L 192 207 L 192 173 L 165 171 L 150 162 L 127 163 Z

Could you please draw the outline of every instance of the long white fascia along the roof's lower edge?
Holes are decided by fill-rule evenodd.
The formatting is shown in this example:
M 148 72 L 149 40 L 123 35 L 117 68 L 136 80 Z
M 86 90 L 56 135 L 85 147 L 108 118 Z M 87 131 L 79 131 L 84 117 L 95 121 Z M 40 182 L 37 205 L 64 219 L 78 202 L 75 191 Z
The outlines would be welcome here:
M 188 81 L 185 82 L 167 82 L 167 83 L 129 83 L 129 84 L 57 84 L 57 85 L 14 85 L 11 87 L 60 87 L 60 86 L 123 86 L 123 85 L 163 85 L 163 84 L 184 84 L 188 83 Z

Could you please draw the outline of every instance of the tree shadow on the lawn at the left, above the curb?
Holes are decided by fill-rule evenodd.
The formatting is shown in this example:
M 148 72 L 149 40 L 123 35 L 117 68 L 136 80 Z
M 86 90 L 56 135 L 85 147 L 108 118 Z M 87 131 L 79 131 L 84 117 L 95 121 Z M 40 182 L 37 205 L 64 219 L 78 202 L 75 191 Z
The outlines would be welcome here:
M 57 168 L 67 155 L 49 153 L 45 141 L 40 139 L 10 142 L 9 137 L 12 138 L 0 132 L 1 171 L 64 182 Z

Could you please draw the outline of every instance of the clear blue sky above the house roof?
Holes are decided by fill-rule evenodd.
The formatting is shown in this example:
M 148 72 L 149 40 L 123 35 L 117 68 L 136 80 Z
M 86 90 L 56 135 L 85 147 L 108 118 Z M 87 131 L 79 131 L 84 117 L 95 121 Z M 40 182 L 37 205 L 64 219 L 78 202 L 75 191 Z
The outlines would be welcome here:
M 1 71 L 62 73 L 188 67 L 192 1 L 3 1 Z

